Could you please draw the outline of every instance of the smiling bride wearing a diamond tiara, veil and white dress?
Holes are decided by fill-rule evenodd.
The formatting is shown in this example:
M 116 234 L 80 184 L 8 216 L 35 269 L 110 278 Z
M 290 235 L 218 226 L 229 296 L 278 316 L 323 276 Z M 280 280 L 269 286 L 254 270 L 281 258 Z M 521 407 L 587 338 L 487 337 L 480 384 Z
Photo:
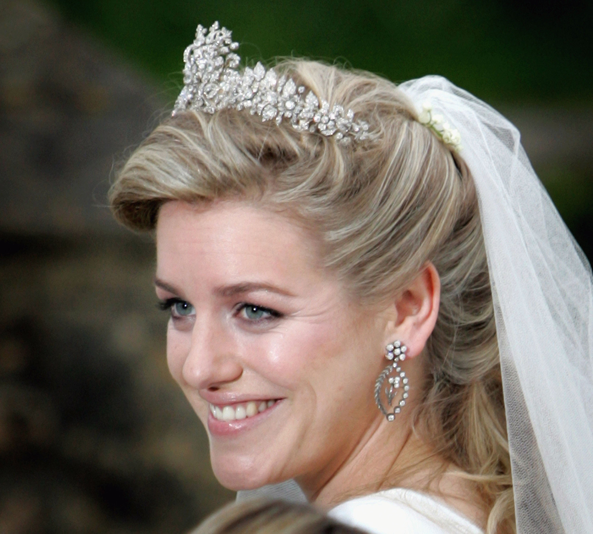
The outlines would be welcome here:
M 518 132 L 442 78 L 235 48 L 198 27 L 111 190 L 219 481 L 372 532 L 593 532 L 591 275 Z

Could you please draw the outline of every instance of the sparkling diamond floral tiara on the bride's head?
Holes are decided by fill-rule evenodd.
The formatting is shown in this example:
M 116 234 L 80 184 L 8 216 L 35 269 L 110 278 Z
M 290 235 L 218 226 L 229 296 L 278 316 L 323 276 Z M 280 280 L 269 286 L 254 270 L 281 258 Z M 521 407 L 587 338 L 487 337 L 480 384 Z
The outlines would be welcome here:
M 237 70 L 241 58 L 233 52 L 239 45 L 232 33 L 218 22 L 206 28 L 199 25 L 196 39 L 183 53 L 184 87 L 177 97 L 173 115 L 186 109 L 215 113 L 222 109 L 248 109 L 262 122 L 288 120 L 299 132 L 318 132 L 348 144 L 369 138 L 366 122 L 354 120 L 354 112 L 343 106 L 319 100 L 313 91 L 297 85 L 291 78 L 278 77 L 262 63 Z

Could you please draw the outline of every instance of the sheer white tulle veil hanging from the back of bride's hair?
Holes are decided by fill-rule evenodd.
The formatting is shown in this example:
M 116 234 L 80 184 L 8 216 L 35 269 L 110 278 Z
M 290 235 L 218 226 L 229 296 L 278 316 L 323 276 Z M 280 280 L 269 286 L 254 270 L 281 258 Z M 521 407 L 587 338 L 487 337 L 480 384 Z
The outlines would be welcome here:
M 593 292 L 589 263 L 517 129 L 445 78 L 401 84 L 461 134 L 495 304 L 519 534 L 593 532 Z M 302 498 L 294 482 L 260 490 Z M 256 490 L 257 491 L 257 490 Z M 239 498 L 250 492 L 240 492 Z

